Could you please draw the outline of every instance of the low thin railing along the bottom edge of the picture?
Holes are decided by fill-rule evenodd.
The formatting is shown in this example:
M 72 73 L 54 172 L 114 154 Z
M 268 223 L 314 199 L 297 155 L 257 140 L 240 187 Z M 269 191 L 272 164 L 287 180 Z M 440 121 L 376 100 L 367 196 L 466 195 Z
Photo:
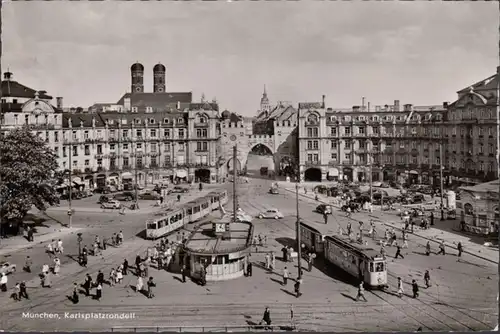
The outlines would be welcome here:
M 241 325 L 241 326 L 117 326 L 112 332 L 250 332 L 250 331 L 296 331 L 295 324 L 289 325 Z

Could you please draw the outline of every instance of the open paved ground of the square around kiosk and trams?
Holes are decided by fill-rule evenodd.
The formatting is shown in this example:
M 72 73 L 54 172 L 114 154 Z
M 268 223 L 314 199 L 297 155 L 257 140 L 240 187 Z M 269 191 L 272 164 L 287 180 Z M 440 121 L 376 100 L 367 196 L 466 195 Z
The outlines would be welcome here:
M 222 185 L 227 189 L 230 184 Z M 4 260 L 17 263 L 20 268 L 27 255 L 33 257 L 35 270 L 33 273 L 18 271 L 9 277 L 9 292 L 16 281 L 27 280 L 30 300 L 20 302 L 9 298 L 10 293 L 1 295 L 2 328 L 5 330 L 111 330 L 113 327 L 159 326 L 248 326 L 255 325 L 262 319 L 266 306 L 271 309 L 273 324 L 286 325 L 293 322 L 303 330 L 334 331 L 399 331 L 416 330 L 486 330 L 496 325 L 497 317 L 497 257 L 490 260 L 465 254 L 457 262 L 456 251 L 449 249 L 445 256 L 423 255 L 425 238 L 418 233 L 411 235 L 409 248 L 404 249 L 404 259 L 393 259 L 395 250 L 387 247 L 389 289 L 386 292 L 367 292 L 368 301 L 355 302 L 357 289 L 349 278 L 339 273 L 338 269 L 326 266 L 319 260 L 312 272 L 305 272 L 303 295 L 293 295 L 293 282 L 288 286 L 281 284 L 282 270 L 285 266 L 292 278 L 297 275 L 296 263 L 283 263 L 280 260 L 280 249 L 285 244 L 293 244 L 295 238 L 295 195 L 286 191 L 283 186 L 280 194 L 268 194 L 269 181 L 251 179 L 239 189 L 241 208 L 251 214 L 258 215 L 262 210 L 278 208 L 285 218 L 281 220 L 261 220 L 255 218 L 255 234 L 266 236 L 264 246 L 253 249 L 251 260 L 254 263 L 252 277 L 243 277 L 225 282 L 208 282 L 199 286 L 188 280 L 182 283 L 178 274 L 166 271 L 150 270 L 157 288 L 155 298 L 148 299 L 141 293 L 134 292 L 136 277 L 134 270 L 125 276 L 123 283 L 116 286 L 105 286 L 100 301 L 80 296 L 80 302 L 73 304 L 68 296 L 75 282 L 83 283 L 85 275 L 90 273 L 95 278 L 98 270 L 102 270 L 107 279 L 111 268 L 117 267 L 126 258 L 133 265 L 137 254 L 145 254 L 152 241 L 140 237 L 144 229 L 144 221 L 153 213 L 116 216 L 114 213 L 96 212 L 93 214 L 77 214 L 74 219 L 75 231 L 83 233 L 84 243 L 90 243 L 96 234 L 111 235 L 123 230 L 126 241 L 120 247 L 110 247 L 102 256 L 90 257 L 88 268 L 80 267 L 74 260 L 78 253 L 74 232 L 62 237 L 66 255 L 63 256 L 61 274 L 53 278 L 52 288 L 41 288 L 37 277 L 41 265 L 49 261 L 44 253 L 46 242 L 43 236 L 38 240 L 35 236 L 33 245 L 28 248 L 12 248 L 11 253 L 2 253 Z M 208 191 L 208 190 L 207 190 Z M 197 195 L 197 190 L 189 196 Z M 188 200 L 188 196 L 184 198 Z M 300 215 L 305 221 L 323 222 L 321 215 L 313 212 L 318 203 L 311 198 L 300 197 Z M 228 204 L 231 208 L 231 203 Z M 49 214 L 66 219 L 62 213 L 48 211 Z M 57 218 L 56 217 L 56 218 Z M 399 223 L 394 214 L 380 212 L 358 213 L 353 215 L 355 221 L 368 221 L 378 217 L 377 228 L 385 229 L 385 225 Z M 349 218 L 337 211 L 330 218 L 332 229 L 346 227 Z M 78 229 L 78 230 L 77 230 Z M 60 228 L 61 232 L 65 231 Z M 439 231 L 448 240 L 454 234 Z M 49 234 L 47 234 L 49 235 Z M 54 234 L 55 235 L 55 234 Z M 136 236 L 139 235 L 139 236 Z M 49 236 L 49 239 L 51 237 Z M 58 238 L 58 236 L 57 236 Z M 13 243 L 10 239 L 6 242 Z M 27 244 L 25 240 L 17 242 Z M 472 245 L 465 241 L 464 247 L 472 252 Z M 437 245 L 433 246 L 434 251 Z M 4 249 L 8 251 L 8 247 Z M 277 253 L 277 268 L 273 272 L 263 269 L 266 252 Z M 483 253 L 488 253 L 487 250 Z M 484 254 L 483 254 L 484 255 Z M 305 263 L 304 263 L 305 266 Z M 430 271 L 432 286 L 423 288 L 423 273 Z M 405 291 L 411 292 L 409 283 L 416 279 L 421 286 L 418 299 L 410 296 L 396 296 L 396 279 L 401 277 L 405 283 Z M 23 312 L 25 313 L 23 317 Z M 26 312 L 29 312 L 26 313 Z M 43 312 L 56 314 L 53 319 L 36 319 L 35 315 Z M 74 319 L 77 314 L 119 313 L 123 317 L 135 315 L 133 319 Z

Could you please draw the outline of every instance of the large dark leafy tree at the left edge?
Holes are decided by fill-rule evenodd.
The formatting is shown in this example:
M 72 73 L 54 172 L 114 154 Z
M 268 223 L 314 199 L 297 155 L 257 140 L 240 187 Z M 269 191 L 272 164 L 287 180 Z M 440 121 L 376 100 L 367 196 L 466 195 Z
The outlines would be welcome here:
M 54 183 L 55 154 L 27 127 L 0 141 L 0 215 L 2 222 L 22 220 L 35 206 L 46 210 L 59 202 Z

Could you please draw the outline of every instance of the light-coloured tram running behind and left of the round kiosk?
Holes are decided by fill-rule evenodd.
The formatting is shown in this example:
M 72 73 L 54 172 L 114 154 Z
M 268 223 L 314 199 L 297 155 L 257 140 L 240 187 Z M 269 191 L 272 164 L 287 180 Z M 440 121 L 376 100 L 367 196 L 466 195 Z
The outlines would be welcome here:
M 214 191 L 204 197 L 186 203 L 162 217 L 146 221 L 146 239 L 158 239 L 184 225 L 208 216 L 213 210 L 227 204 L 227 191 Z

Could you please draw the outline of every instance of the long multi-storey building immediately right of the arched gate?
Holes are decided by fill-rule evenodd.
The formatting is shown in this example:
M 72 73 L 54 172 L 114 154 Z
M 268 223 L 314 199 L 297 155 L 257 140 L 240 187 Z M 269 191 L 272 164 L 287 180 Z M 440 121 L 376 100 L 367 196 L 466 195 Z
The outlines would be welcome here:
M 443 106 L 325 108 L 299 103 L 299 163 L 305 180 L 436 183 Z

